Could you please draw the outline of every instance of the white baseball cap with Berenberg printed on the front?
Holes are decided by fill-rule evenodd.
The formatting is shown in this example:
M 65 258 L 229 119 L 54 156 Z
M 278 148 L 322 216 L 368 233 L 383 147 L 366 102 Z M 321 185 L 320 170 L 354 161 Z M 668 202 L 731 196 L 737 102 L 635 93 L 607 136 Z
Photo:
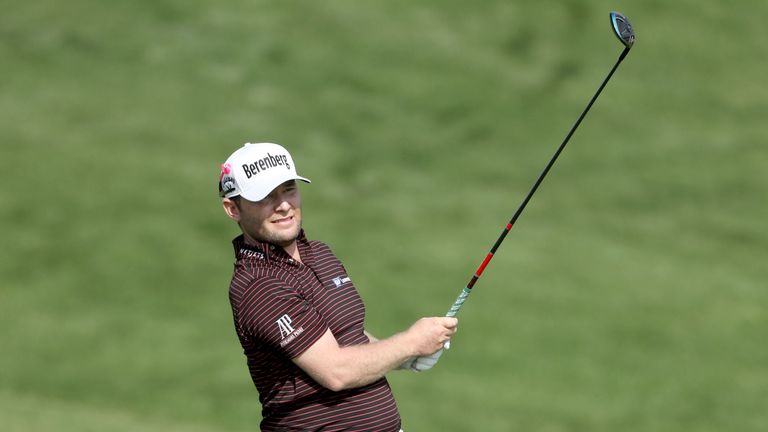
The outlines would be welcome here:
M 248 201 L 261 201 L 288 180 L 311 183 L 296 174 L 293 158 L 283 146 L 246 143 L 221 165 L 219 195 L 224 198 L 239 195 Z

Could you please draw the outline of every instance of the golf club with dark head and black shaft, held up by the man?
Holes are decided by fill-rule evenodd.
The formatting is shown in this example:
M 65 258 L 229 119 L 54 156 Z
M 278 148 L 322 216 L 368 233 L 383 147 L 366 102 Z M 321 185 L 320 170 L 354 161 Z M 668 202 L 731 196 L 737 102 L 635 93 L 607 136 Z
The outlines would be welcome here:
M 560 147 L 557 148 L 557 151 L 549 160 L 549 163 L 547 163 L 547 165 L 544 167 L 544 170 L 541 172 L 541 174 L 539 175 L 539 178 L 533 184 L 533 187 L 531 187 L 531 190 L 528 192 L 528 195 L 525 197 L 525 199 L 523 199 L 523 202 L 520 204 L 520 207 L 518 207 L 514 216 L 512 216 L 512 219 L 510 219 L 509 223 L 507 223 L 506 227 L 504 227 L 504 230 L 501 232 L 501 235 L 496 240 L 496 243 L 493 245 L 490 252 L 488 252 L 488 254 L 485 256 L 485 259 L 483 260 L 483 262 L 480 263 L 480 266 L 472 275 L 472 278 L 470 279 L 469 283 L 467 284 L 466 287 L 464 287 L 464 289 L 462 289 L 461 294 L 459 294 L 459 297 L 453 303 L 453 306 L 451 306 L 451 308 L 448 310 L 448 313 L 445 314 L 445 316 L 453 317 L 459 313 L 459 309 L 461 309 L 461 306 L 467 300 L 467 297 L 469 297 L 469 294 L 472 293 L 472 288 L 475 286 L 475 283 L 477 282 L 478 279 L 480 279 L 480 276 L 482 276 L 486 266 L 488 265 L 489 262 L 491 262 L 493 255 L 499 249 L 499 246 L 501 246 L 501 243 L 504 241 L 504 239 L 507 237 L 507 234 L 509 234 L 509 231 L 515 225 L 517 218 L 520 217 L 520 214 L 525 209 L 525 206 L 528 205 L 528 201 L 531 200 L 531 197 L 533 197 L 533 194 L 536 192 L 536 189 L 539 188 L 539 185 L 541 184 L 542 180 L 544 180 L 544 177 L 547 175 L 550 168 L 552 168 L 552 165 L 555 163 L 555 160 L 557 160 L 557 157 L 560 156 L 560 153 L 565 148 L 565 145 L 568 144 L 568 141 L 571 139 L 571 136 L 576 131 L 576 128 L 578 128 L 579 125 L 581 124 L 581 121 L 584 120 L 584 117 L 587 115 L 587 112 L 589 112 L 589 109 L 592 108 L 592 104 L 594 104 L 595 100 L 597 100 L 597 97 L 600 96 L 600 93 L 603 91 L 603 88 L 608 83 L 608 80 L 611 79 L 611 76 L 613 76 L 613 73 L 619 67 L 619 64 L 621 64 L 622 60 L 624 60 L 624 58 L 629 53 L 629 50 L 632 48 L 632 45 L 635 43 L 635 32 L 632 29 L 632 25 L 629 23 L 629 20 L 619 12 L 611 12 L 609 15 L 611 18 L 611 28 L 613 29 L 613 33 L 616 35 L 617 38 L 619 38 L 621 43 L 624 44 L 624 50 L 619 55 L 619 59 L 616 61 L 616 64 L 613 65 L 613 68 L 611 68 L 611 71 L 608 73 L 608 76 L 606 76 L 605 79 L 603 80 L 603 83 L 600 84 L 600 87 L 595 92 L 595 95 L 592 96 L 592 99 L 589 101 L 589 104 L 587 104 L 587 107 L 584 108 L 584 111 L 581 112 L 581 115 L 576 120 L 576 123 L 574 123 L 574 125 L 571 127 L 571 130 L 565 136 L 565 139 L 563 140 L 562 144 L 560 144 Z M 450 341 L 446 342 L 444 346 L 446 349 L 450 348 Z M 440 357 L 440 354 L 442 354 L 442 350 L 436 352 L 435 354 L 432 354 L 431 356 L 417 358 L 416 361 L 414 362 L 414 366 L 413 366 L 414 369 L 416 370 L 429 369 L 430 367 L 432 367 L 432 365 L 434 365 L 435 362 L 437 362 L 437 359 Z M 426 367 L 424 367 L 424 369 L 419 369 L 419 364 L 426 365 Z

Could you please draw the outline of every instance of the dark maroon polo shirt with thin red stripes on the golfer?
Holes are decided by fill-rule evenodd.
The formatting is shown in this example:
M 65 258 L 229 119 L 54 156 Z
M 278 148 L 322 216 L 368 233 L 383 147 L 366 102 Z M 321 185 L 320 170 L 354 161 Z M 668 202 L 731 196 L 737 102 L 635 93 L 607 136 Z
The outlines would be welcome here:
M 365 306 L 330 248 L 298 239 L 302 263 L 269 243 L 233 240 L 229 289 L 235 330 L 262 405 L 263 431 L 398 431 L 400 415 L 385 378 L 334 392 L 291 359 L 331 329 L 341 346 L 368 343 Z

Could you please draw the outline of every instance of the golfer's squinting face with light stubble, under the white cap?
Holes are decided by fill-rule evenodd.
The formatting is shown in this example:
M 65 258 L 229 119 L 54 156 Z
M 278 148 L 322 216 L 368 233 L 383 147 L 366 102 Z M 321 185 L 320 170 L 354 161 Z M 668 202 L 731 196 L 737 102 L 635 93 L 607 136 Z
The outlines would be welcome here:
M 301 230 L 301 196 L 295 180 L 276 187 L 261 201 L 224 199 L 224 210 L 240 224 L 246 238 L 286 247 Z

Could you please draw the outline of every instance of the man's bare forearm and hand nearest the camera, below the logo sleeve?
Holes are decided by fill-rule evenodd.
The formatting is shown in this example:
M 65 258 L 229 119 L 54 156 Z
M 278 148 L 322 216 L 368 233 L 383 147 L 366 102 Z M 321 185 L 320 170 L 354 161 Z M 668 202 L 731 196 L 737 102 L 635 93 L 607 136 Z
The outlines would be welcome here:
M 320 385 L 333 391 L 360 387 L 380 379 L 412 357 L 440 350 L 456 331 L 456 324 L 455 318 L 422 318 L 402 333 L 349 347 L 340 347 L 333 333 L 327 330 L 293 361 Z

